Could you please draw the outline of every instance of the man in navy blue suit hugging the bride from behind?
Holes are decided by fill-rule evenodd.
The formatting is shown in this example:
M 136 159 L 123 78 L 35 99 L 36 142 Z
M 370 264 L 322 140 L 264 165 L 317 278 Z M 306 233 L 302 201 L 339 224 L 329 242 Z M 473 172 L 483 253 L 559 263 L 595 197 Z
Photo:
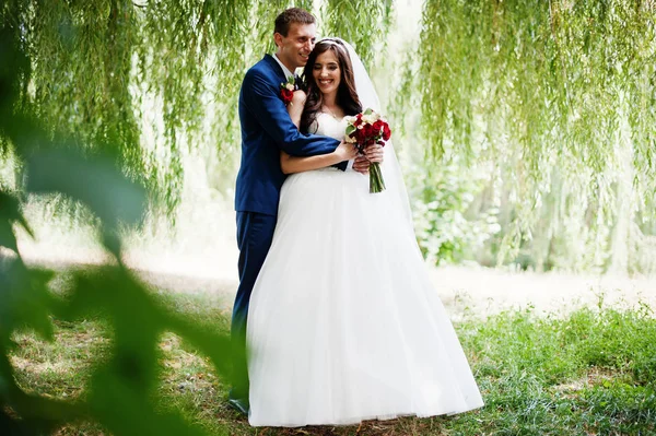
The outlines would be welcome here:
M 276 19 L 273 38 L 277 52 L 266 55 L 248 70 L 239 93 L 242 164 L 235 191 L 239 287 L 231 327 L 233 387 L 229 402 L 245 414 L 248 413 L 246 318 L 250 292 L 276 228 L 280 188 L 285 178 L 280 168 L 280 151 L 293 156 L 313 156 L 331 153 L 340 143 L 332 138 L 300 133 L 282 99 L 281 84 L 294 78 L 294 70 L 305 66 L 314 48 L 315 17 L 303 9 L 288 9 Z M 347 164 L 337 166 L 345 170 Z M 365 174 L 368 161 L 356 158 L 353 169 Z

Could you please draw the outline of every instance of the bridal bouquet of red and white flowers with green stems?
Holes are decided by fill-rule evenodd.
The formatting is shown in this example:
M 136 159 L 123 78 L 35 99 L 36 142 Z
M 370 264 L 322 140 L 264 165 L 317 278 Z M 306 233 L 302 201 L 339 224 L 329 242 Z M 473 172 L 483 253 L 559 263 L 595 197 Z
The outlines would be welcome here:
M 385 145 L 385 142 L 391 137 L 389 125 L 380 114 L 367 108 L 362 114 L 347 119 L 345 141 L 355 145 L 358 151 L 363 154 L 364 150 L 373 144 Z M 385 181 L 380 172 L 380 164 L 372 162 L 370 166 L 370 192 L 382 192 L 385 190 Z

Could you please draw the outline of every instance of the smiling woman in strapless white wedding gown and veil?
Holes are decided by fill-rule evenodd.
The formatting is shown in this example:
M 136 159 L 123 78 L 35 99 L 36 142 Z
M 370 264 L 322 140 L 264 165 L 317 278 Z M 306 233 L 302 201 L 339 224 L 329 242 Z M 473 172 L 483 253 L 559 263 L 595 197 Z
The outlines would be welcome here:
M 379 109 L 352 47 L 323 39 L 305 67 L 292 120 L 342 139 L 345 115 Z M 253 290 L 247 344 L 254 426 L 354 424 L 454 414 L 483 402 L 417 246 L 390 142 L 387 190 L 327 165 L 354 156 L 281 156 L 273 243 Z

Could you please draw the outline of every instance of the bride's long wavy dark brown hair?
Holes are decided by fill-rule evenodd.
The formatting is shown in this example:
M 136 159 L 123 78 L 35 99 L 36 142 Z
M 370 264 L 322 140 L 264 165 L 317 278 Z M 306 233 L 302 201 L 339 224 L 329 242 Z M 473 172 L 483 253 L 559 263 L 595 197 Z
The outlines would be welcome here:
M 317 115 L 321 110 L 321 105 L 324 104 L 324 95 L 315 82 L 312 70 L 317 61 L 317 57 L 328 50 L 331 50 L 335 54 L 335 57 L 339 62 L 339 70 L 341 71 L 341 80 L 339 82 L 339 87 L 337 89 L 337 105 L 342 108 L 344 115 L 358 115 L 362 111 L 362 105 L 360 104 L 360 98 L 355 92 L 353 66 L 351 64 L 351 58 L 349 57 L 347 47 L 339 39 L 321 39 L 315 45 L 314 50 L 309 54 L 307 63 L 303 70 L 303 75 L 307 83 L 307 101 L 305 102 L 305 109 L 301 116 L 301 131 L 304 133 L 308 133 L 309 127 L 317 119 Z

